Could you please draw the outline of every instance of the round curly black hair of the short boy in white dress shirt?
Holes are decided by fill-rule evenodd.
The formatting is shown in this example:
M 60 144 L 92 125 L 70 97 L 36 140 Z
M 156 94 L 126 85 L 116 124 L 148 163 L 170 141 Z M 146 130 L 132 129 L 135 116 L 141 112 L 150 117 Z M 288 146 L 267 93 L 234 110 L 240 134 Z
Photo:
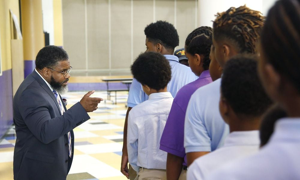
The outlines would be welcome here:
M 171 80 L 169 61 L 158 52 L 144 52 L 131 65 L 131 73 L 142 85 L 164 89 Z

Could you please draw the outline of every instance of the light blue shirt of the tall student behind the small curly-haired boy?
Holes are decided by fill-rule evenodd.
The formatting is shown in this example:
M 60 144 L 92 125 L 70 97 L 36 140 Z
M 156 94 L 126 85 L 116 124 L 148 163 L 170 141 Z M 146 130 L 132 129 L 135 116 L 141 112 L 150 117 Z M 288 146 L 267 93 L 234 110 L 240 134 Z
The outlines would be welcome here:
M 182 86 L 195 81 L 196 79 L 198 79 L 198 77 L 195 76 L 195 74 L 190 70 L 189 67 L 180 64 L 177 56 L 164 56 L 169 60 L 170 66 L 172 68 L 172 77 L 170 82 L 168 83 L 167 90 L 172 94 L 174 98 L 177 94 L 177 91 L 179 91 Z M 148 100 L 148 98 L 149 96 L 144 93 L 142 85 L 136 79 L 133 79 L 129 89 L 127 106 L 135 107 L 137 104 Z

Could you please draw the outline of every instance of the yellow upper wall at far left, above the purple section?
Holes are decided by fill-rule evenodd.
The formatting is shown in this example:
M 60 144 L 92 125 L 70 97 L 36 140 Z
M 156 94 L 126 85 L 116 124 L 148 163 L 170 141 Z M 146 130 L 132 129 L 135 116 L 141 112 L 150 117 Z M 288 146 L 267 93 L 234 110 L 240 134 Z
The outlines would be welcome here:
M 9 9 L 19 19 L 19 1 L 18 0 L 0 0 L 0 38 L 1 38 L 1 59 L 2 71 L 11 69 L 11 51 L 10 51 L 10 12 Z

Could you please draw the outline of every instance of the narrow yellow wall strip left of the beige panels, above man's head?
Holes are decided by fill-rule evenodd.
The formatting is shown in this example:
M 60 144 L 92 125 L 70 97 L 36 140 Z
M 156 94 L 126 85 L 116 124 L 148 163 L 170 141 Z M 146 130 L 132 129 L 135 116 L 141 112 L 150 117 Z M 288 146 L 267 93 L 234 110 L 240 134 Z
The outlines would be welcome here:
M 63 46 L 61 0 L 53 0 L 54 45 Z

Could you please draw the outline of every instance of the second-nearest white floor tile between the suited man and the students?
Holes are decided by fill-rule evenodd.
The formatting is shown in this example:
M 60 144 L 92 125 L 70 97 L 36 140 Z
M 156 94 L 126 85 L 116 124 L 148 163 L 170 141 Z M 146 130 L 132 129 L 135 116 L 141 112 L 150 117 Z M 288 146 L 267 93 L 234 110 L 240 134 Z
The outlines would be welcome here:
M 122 144 L 120 143 L 104 143 L 104 144 L 89 144 L 75 146 L 75 149 L 85 154 L 96 154 L 106 152 L 120 152 L 122 151 Z

